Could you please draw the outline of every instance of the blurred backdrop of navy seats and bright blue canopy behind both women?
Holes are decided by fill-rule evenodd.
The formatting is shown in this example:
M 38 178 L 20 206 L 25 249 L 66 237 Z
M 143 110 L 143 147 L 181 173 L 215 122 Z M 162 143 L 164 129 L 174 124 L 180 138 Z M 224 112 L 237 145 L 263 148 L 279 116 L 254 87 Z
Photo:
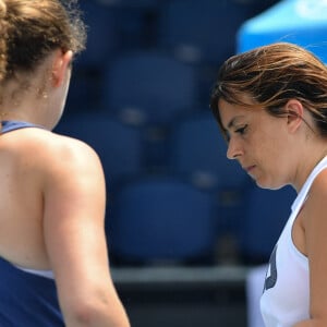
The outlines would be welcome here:
M 261 327 L 249 286 L 264 276 L 250 276 L 295 193 L 259 190 L 228 161 L 210 89 L 228 57 L 272 41 L 325 61 L 326 1 L 80 3 L 87 49 L 55 131 L 101 158 L 110 264 L 132 326 Z

